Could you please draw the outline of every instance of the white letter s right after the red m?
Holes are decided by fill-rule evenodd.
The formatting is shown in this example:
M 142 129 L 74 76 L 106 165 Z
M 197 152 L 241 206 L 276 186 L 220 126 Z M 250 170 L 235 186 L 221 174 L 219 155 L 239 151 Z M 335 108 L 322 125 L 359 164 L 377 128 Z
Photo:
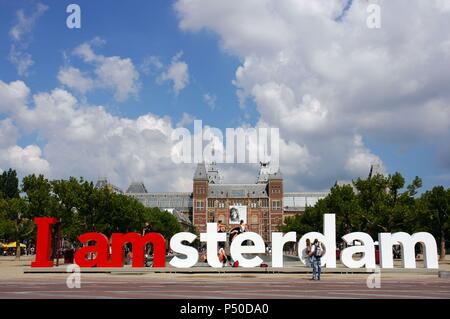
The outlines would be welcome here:
M 183 241 L 192 243 L 197 236 L 192 233 L 182 232 L 175 234 L 170 239 L 170 248 L 179 254 L 186 255 L 186 258 L 182 259 L 177 256 L 173 257 L 170 264 L 177 268 L 189 268 L 194 266 L 198 261 L 198 251 L 194 247 L 183 245 Z

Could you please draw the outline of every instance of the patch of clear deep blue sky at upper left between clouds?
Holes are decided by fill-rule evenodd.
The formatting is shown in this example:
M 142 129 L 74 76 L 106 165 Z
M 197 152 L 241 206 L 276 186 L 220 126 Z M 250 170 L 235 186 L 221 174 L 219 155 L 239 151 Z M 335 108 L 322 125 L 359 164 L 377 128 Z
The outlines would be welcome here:
M 104 92 L 88 94 L 92 103 L 106 105 L 112 112 L 127 117 L 136 117 L 152 112 L 158 115 L 171 115 L 181 118 L 189 112 L 200 118 L 207 118 L 211 125 L 218 127 L 235 126 L 237 117 L 223 122 L 219 112 L 210 112 L 203 101 L 203 94 L 214 92 L 220 98 L 217 110 L 239 112 L 232 79 L 239 61 L 236 57 L 221 52 L 214 34 L 196 34 L 180 31 L 177 16 L 169 1 L 130 1 L 127 5 L 112 1 L 78 1 L 82 11 L 82 28 L 68 29 L 65 20 L 68 16 L 65 1 L 48 2 L 49 9 L 36 23 L 30 36 L 29 52 L 36 64 L 27 83 L 34 91 L 46 91 L 58 86 L 56 74 L 64 63 L 63 52 L 70 52 L 83 42 L 101 37 L 106 44 L 101 48 L 103 55 L 129 57 L 139 65 L 147 56 L 157 56 L 162 62 L 170 62 L 177 52 L 189 61 L 192 81 L 189 90 L 179 96 L 170 92 L 170 85 L 158 85 L 151 77 L 143 79 L 143 89 L 136 99 L 116 103 Z M 15 23 L 16 11 L 23 9 L 31 14 L 32 1 L 2 1 L 0 52 L 7 57 L 10 50 L 8 31 Z M 74 64 L 79 63 L 70 57 Z M 1 78 L 9 82 L 16 80 L 14 65 L 7 59 L 1 61 Z M 103 94 L 102 94 L 103 93 Z

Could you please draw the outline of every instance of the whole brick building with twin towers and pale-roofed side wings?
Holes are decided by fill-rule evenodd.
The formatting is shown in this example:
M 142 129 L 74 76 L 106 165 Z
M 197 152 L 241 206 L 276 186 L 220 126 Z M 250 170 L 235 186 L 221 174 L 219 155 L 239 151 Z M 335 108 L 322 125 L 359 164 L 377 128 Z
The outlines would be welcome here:
M 148 192 L 141 182 L 131 183 L 122 192 L 106 179 L 97 185 L 134 197 L 146 207 L 168 211 L 186 231 L 205 232 L 206 224 L 214 222 L 224 223 L 230 231 L 243 220 L 249 231 L 258 233 L 267 243 L 287 217 L 303 213 L 328 194 L 285 192 L 281 172 L 272 172 L 269 163 L 260 164 L 256 182 L 252 184 L 223 183 L 214 163 L 197 164 L 192 192 Z

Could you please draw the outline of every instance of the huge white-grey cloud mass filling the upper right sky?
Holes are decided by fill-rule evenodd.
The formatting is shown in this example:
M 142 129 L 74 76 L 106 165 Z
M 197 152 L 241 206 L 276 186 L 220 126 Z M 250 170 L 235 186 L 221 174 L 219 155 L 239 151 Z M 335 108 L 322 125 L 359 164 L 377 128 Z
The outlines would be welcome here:
M 382 165 L 355 136 L 438 149 L 450 136 L 446 3 L 379 1 L 377 30 L 366 26 L 365 1 L 353 1 L 341 21 L 346 0 L 178 0 L 175 9 L 182 30 L 217 33 L 242 61 L 233 82 L 241 104 L 253 99 L 260 124 L 279 127 L 284 143 L 314 158 L 306 172 L 284 171 L 288 183 L 311 189 Z M 281 168 L 295 160 L 286 155 Z

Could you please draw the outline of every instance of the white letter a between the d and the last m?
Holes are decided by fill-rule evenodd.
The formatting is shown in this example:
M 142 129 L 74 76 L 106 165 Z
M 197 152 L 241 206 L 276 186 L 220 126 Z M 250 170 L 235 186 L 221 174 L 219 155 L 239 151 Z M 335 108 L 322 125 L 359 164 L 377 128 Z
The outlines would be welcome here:
M 342 239 L 348 244 L 354 240 L 361 241 L 362 245 L 355 245 L 345 248 L 341 253 L 341 261 L 348 268 L 360 268 L 366 266 L 366 268 L 375 268 L 375 246 L 372 237 L 366 233 L 351 233 L 342 236 Z M 353 255 L 356 253 L 363 253 L 360 260 L 354 260 Z

